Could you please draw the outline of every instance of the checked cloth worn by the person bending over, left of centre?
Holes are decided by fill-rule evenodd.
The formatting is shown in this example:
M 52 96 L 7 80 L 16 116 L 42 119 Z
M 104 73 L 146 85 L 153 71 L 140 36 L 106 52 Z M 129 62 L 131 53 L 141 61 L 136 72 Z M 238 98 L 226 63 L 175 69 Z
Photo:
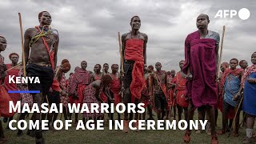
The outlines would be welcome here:
M 101 93 L 102 93 L 102 89 L 100 90 L 100 94 Z M 83 95 L 84 95 L 83 103 L 88 106 L 89 110 L 91 110 L 91 108 L 90 108 L 91 103 L 98 103 L 98 105 L 99 105 L 98 111 L 101 112 L 101 106 L 100 106 L 101 103 L 98 102 L 98 99 L 96 98 L 95 94 L 96 94 L 96 89 L 94 88 L 94 86 L 91 86 L 91 85 L 86 86 L 86 89 L 83 92 Z M 102 116 L 101 113 L 86 113 L 85 112 L 83 114 L 84 118 L 98 118 L 100 116 Z

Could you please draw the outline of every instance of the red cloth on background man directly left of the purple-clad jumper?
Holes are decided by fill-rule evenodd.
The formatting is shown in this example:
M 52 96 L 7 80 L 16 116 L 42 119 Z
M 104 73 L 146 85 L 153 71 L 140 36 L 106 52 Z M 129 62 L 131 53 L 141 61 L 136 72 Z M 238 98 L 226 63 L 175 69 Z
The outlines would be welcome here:
M 177 90 L 177 94 L 176 94 L 176 101 L 178 106 L 182 106 L 182 107 L 188 107 L 189 106 L 189 102 L 186 101 L 186 78 L 182 78 L 182 74 L 181 72 L 178 72 L 176 75 L 176 90 Z

